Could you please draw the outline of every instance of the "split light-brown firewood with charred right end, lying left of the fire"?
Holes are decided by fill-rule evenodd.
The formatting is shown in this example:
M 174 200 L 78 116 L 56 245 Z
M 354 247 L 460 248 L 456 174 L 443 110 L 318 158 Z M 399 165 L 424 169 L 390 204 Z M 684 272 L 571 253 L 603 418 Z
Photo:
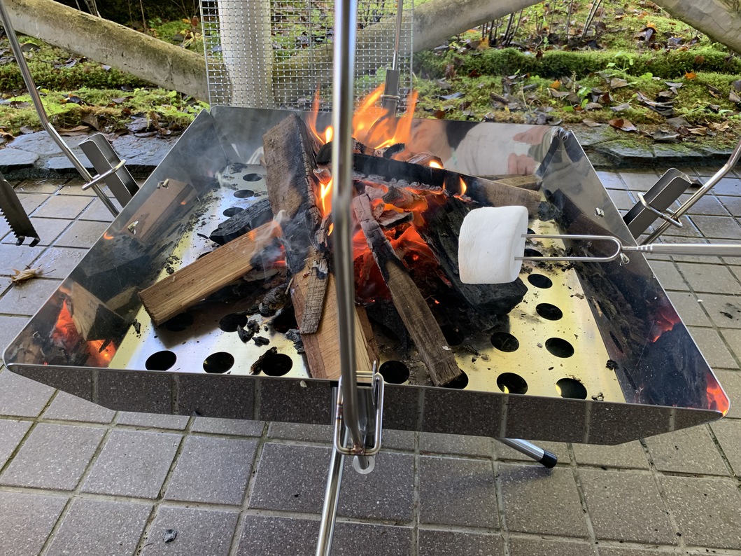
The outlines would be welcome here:
M 180 268 L 139 292 L 144 309 L 156 325 L 161 325 L 247 274 L 254 268 L 253 257 L 270 245 L 280 232 L 277 222 L 268 222 Z

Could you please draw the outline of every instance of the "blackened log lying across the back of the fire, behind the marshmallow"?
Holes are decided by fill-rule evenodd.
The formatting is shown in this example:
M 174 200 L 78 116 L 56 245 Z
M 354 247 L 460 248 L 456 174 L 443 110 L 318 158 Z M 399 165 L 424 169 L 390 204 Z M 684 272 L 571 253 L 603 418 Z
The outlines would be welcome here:
M 490 179 L 467 176 L 443 168 L 432 168 L 364 154 L 353 155 L 353 179 L 391 187 L 436 191 L 448 196 L 465 193 L 476 202 L 492 207 L 522 205 L 535 216 L 540 204 L 536 191 L 515 188 Z M 465 185 L 465 188 L 463 187 Z M 464 191 L 465 190 L 465 191 Z

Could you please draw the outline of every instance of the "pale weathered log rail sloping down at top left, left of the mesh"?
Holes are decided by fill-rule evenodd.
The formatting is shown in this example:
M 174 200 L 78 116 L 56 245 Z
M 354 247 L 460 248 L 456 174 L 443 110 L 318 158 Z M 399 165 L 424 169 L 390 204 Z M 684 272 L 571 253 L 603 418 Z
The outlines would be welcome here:
M 4 0 L 13 27 L 166 89 L 208 99 L 203 56 L 52 0 Z

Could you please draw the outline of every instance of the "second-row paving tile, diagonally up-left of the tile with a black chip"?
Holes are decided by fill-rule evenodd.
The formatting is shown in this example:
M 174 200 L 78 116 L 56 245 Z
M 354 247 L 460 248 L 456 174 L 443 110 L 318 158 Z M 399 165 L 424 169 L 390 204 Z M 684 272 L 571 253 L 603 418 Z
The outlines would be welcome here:
M 179 434 L 114 429 L 82 491 L 156 498 L 181 439 Z

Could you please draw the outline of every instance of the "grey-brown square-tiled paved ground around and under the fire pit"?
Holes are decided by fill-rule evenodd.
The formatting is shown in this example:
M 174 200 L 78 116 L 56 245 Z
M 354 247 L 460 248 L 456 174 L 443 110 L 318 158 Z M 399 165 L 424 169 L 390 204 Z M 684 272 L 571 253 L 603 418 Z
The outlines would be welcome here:
M 600 177 L 625 210 L 657 174 Z M 79 182 L 16 189 L 42 242 L 16 247 L 2 229 L 1 345 L 109 219 Z M 689 220 L 666 240 L 741 241 L 741 179 Z M 388 431 L 376 471 L 345 474 L 334 554 L 740 555 L 741 321 L 720 310 L 741 306 L 741 259 L 652 264 L 738 402 L 728 418 L 617 447 L 545 443 L 551 471 L 489 438 Z M 44 276 L 11 287 L 24 265 Z M 321 426 L 117 413 L 0 371 L 0 555 L 313 554 L 328 438 Z

